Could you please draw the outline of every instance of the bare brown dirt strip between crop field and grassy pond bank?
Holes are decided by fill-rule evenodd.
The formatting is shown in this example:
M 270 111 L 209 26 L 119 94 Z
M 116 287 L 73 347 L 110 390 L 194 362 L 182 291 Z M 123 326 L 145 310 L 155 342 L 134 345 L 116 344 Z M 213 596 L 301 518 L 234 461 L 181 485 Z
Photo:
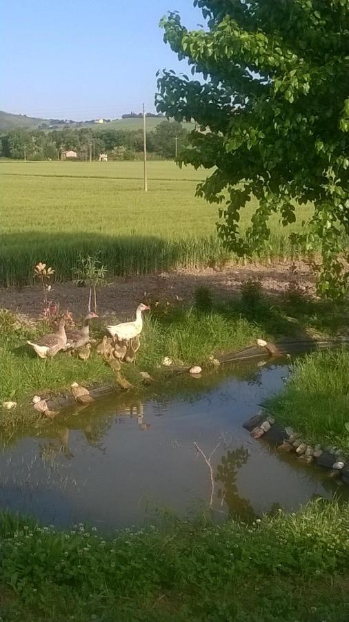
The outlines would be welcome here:
M 314 279 L 308 266 L 298 263 L 297 272 L 299 285 L 314 292 Z M 220 271 L 206 268 L 206 270 L 177 270 L 149 276 L 132 276 L 128 279 L 116 278 L 108 287 L 99 290 L 99 314 L 132 316 L 134 308 L 139 301 L 146 298 L 146 295 L 150 296 L 152 301 L 172 301 L 179 296 L 183 301 L 190 302 L 199 285 L 209 287 L 217 296 L 232 296 L 239 293 L 241 283 L 248 279 L 258 280 L 266 291 L 279 294 L 288 287 L 289 265 L 286 263 L 274 263 L 269 266 L 230 265 Z M 88 290 L 78 288 L 73 283 L 56 283 L 52 299 L 59 302 L 61 310 L 69 309 L 80 316 L 86 312 Z M 0 307 L 21 312 L 32 318 L 38 316 L 42 306 L 41 300 L 39 285 L 29 285 L 20 290 L 0 289 Z

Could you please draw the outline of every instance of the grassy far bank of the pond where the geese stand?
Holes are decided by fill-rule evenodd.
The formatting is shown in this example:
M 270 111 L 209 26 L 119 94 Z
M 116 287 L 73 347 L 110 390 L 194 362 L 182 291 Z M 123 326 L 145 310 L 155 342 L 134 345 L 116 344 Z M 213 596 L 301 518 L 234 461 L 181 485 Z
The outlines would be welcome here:
M 27 345 L 27 339 L 35 339 L 43 328 L 18 326 L 16 318 L 8 312 L 0 312 L 0 401 L 12 399 L 21 402 L 26 396 L 47 391 L 59 392 L 73 381 L 88 384 L 92 381 L 112 382 L 114 375 L 108 365 L 92 351 L 88 361 L 69 357 L 66 352 L 48 361 L 39 359 Z M 46 329 L 47 330 L 47 329 Z M 94 328 L 94 336 L 103 335 Z M 137 385 L 141 382 L 139 370 L 146 370 L 154 378 L 168 373 L 161 365 L 164 357 L 174 363 L 209 364 L 210 356 L 218 350 L 243 348 L 257 339 L 258 328 L 254 323 L 228 313 L 228 310 L 211 310 L 200 313 L 194 309 L 159 312 L 146 319 L 142 333 L 141 349 L 137 364 L 123 364 L 121 373 Z M 8 416 L 14 420 L 14 411 Z

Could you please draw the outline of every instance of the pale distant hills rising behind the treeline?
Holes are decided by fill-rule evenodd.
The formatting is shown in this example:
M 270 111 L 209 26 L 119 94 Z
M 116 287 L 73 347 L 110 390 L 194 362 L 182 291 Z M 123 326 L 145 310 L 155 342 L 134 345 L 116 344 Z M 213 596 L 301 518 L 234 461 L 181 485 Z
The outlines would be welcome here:
M 154 129 L 164 120 L 163 117 L 147 117 L 148 131 Z M 194 127 L 192 123 L 183 123 L 188 130 Z M 26 115 L 12 115 L 0 111 L 0 131 L 9 131 L 11 129 L 42 129 L 50 131 L 50 129 L 63 129 L 64 127 L 80 128 L 92 127 L 93 129 L 126 129 L 134 130 L 143 127 L 143 119 L 141 117 L 116 119 L 110 122 L 95 123 L 93 121 L 64 121 L 59 119 L 39 119 L 36 117 L 27 117 Z

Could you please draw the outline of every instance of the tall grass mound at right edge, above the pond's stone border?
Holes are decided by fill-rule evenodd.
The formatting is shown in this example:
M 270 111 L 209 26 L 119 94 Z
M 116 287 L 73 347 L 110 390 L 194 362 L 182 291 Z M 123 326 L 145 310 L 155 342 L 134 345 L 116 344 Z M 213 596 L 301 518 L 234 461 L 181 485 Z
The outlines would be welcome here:
M 348 350 L 298 359 L 286 388 L 266 406 L 306 440 L 349 451 L 348 369 Z

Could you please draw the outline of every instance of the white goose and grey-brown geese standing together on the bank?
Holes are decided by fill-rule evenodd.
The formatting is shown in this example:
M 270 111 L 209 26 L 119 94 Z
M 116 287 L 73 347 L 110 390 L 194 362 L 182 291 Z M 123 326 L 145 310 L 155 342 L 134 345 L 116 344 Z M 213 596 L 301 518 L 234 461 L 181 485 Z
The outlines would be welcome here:
M 136 352 L 139 348 L 139 335 L 143 329 L 143 311 L 149 310 L 150 307 L 141 303 L 136 310 L 136 319 L 131 322 L 122 322 L 115 324 L 114 326 L 107 326 L 106 330 L 112 337 L 112 349 L 114 352 L 119 352 L 118 358 L 123 359 L 129 346 L 132 346 L 132 351 Z M 66 330 L 66 316 L 63 316 L 60 321 L 56 332 L 46 334 L 37 341 L 27 341 L 34 352 L 37 353 L 41 359 L 50 359 L 57 355 L 60 350 L 79 350 L 79 357 L 81 359 L 88 358 L 90 355 L 90 321 L 97 318 L 98 315 L 94 312 L 89 312 L 83 321 L 81 329 L 70 328 Z M 107 343 L 108 338 L 104 337 L 101 345 Z M 86 350 L 86 352 L 84 352 Z

